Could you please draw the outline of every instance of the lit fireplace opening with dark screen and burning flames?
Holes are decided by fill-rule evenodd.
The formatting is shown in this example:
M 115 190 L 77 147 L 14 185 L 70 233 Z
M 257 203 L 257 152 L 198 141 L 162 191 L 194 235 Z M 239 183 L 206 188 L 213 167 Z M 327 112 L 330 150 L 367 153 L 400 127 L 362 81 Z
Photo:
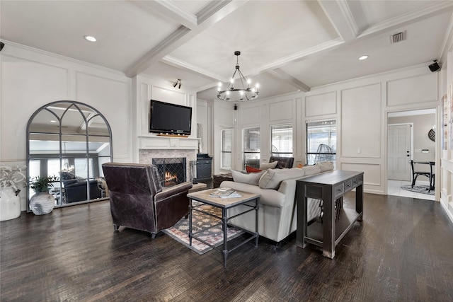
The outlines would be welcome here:
M 185 182 L 185 157 L 153 158 L 152 164 L 157 167 L 162 187 L 171 187 L 173 185 L 178 185 L 181 182 Z

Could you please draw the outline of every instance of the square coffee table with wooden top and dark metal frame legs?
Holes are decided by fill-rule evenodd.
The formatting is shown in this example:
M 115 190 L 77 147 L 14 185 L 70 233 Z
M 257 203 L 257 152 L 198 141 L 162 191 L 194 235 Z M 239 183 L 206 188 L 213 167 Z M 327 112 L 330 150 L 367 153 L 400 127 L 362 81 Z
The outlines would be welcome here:
M 248 243 L 248 241 L 255 239 L 255 246 L 258 246 L 258 199 L 260 199 L 259 194 L 252 194 L 248 192 L 242 192 L 242 191 L 236 191 L 237 193 L 241 194 L 241 197 L 236 197 L 236 198 L 221 198 L 221 197 L 212 197 L 210 194 L 214 192 L 216 189 L 210 189 L 210 190 L 204 190 L 204 191 L 198 191 L 198 192 L 193 192 L 189 193 L 187 196 L 190 199 L 190 204 L 189 204 L 189 244 L 192 245 L 192 239 L 196 239 L 202 243 L 205 243 L 205 245 L 209 245 L 211 248 L 214 248 L 215 250 L 218 250 L 219 252 L 223 252 L 224 254 L 224 267 L 226 267 L 226 257 L 228 256 L 229 252 L 232 252 L 233 250 L 236 250 L 236 248 L 239 248 L 241 245 Z M 201 204 L 193 204 L 193 201 L 200 202 Z M 217 207 L 219 209 L 222 209 L 222 217 L 215 216 L 213 214 L 207 213 L 206 211 L 202 211 L 201 209 L 198 209 L 201 207 L 203 204 L 210 204 L 212 207 Z M 231 209 L 232 207 L 237 207 L 239 205 L 245 205 L 249 209 L 246 209 L 245 211 L 241 212 L 240 214 L 236 214 L 234 216 L 228 217 L 228 209 Z M 214 217 L 215 219 L 219 219 L 222 224 L 222 229 L 224 231 L 224 247 L 223 250 L 220 250 L 219 248 L 215 247 L 214 245 L 210 245 L 206 241 L 197 238 L 197 233 L 192 233 L 192 212 L 193 211 L 198 211 L 200 213 L 209 215 Z M 245 231 L 246 233 L 249 233 L 251 236 L 243 240 L 241 243 L 238 243 L 235 245 L 233 248 L 228 248 L 228 238 L 227 238 L 227 230 L 228 230 L 228 221 L 229 219 L 235 218 L 237 216 L 241 216 L 243 214 L 248 213 L 249 211 L 255 211 L 255 233 L 251 231 L 247 231 L 243 228 L 239 228 L 235 226 L 235 228 L 239 228 L 242 231 Z M 200 233 L 200 232 L 198 232 Z

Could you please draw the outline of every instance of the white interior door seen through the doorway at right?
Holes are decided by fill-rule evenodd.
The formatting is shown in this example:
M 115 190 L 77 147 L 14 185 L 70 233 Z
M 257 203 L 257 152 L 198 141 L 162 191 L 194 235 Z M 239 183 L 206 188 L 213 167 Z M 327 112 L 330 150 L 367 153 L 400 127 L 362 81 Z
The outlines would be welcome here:
M 387 178 L 411 181 L 411 124 L 389 125 L 387 129 Z

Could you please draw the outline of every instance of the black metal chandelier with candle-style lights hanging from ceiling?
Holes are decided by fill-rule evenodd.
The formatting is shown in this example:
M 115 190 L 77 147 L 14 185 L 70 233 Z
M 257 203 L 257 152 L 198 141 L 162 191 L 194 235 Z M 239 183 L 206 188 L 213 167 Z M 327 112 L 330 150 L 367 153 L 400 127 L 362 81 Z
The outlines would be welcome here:
M 231 76 L 228 87 L 225 90 L 222 90 L 222 83 L 219 83 L 217 91 L 217 98 L 219 100 L 243 101 L 258 98 L 258 83 L 254 88 L 250 88 L 250 79 L 246 80 L 239 69 L 240 54 L 241 52 L 234 52 L 234 55 L 236 56 L 236 69 L 234 70 L 233 76 Z M 239 75 L 239 78 L 236 79 L 237 84 L 234 83 L 234 76 L 236 76 L 236 73 Z

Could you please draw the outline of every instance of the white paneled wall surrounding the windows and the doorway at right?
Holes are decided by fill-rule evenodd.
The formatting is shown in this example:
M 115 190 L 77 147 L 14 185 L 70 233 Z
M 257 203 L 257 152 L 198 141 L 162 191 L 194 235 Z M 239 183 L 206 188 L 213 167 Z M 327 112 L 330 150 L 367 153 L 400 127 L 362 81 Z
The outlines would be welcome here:
M 219 133 L 217 119 L 222 118 L 220 112 L 224 114 L 224 104 L 214 101 L 213 106 L 217 112 L 212 122 L 215 135 Z M 437 74 L 425 64 L 313 88 L 308 93 L 240 103 L 234 168 L 242 168 L 243 128 L 260 127 L 260 158 L 264 162 L 270 156 L 270 125 L 292 123 L 297 165 L 306 162 L 306 122 L 333 119 L 337 121 L 338 133 L 337 168 L 364 171 L 365 192 L 386 194 L 387 113 L 438 106 Z M 214 141 L 214 149 L 219 144 Z M 219 172 L 226 171 L 214 170 Z

